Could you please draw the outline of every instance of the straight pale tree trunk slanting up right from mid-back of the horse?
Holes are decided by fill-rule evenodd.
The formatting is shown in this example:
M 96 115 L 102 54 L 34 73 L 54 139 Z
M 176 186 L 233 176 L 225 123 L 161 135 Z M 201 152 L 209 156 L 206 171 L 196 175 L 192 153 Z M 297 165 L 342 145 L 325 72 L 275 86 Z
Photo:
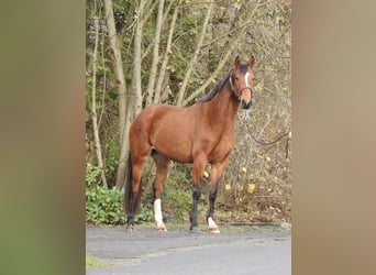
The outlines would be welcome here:
M 183 80 L 181 87 L 180 87 L 179 92 L 178 92 L 178 99 L 177 99 L 177 102 L 176 102 L 177 106 L 181 106 L 183 105 L 183 100 L 184 100 L 184 96 L 185 96 L 185 92 L 186 92 L 186 89 L 187 89 L 187 85 L 188 85 L 189 78 L 190 78 L 190 76 L 191 76 L 191 74 L 193 72 L 197 56 L 200 53 L 200 50 L 201 50 L 201 46 L 202 46 L 202 42 L 203 42 L 203 37 L 204 37 L 206 33 L 207 33 L 207 28 L 208 28 L 208 23 L 209 23 L 209 19 L 210 19 L 210 13 L 211 13 L 213 7 L 214 7 L 214 2 L 210 2 L 209 8 L 207 10 L 207 14 L 206 14 L 203 23 L 202 23 L 201 33 L 200 33 L 200 35 L 198 37 L 198 41 L 197 41 L 197 47 L 196 47 L 195 54 L 193 54 L 192 58 L 190 59 L 190 62 L 188 64 L 187 73 L 185 75 L 185 78 Z

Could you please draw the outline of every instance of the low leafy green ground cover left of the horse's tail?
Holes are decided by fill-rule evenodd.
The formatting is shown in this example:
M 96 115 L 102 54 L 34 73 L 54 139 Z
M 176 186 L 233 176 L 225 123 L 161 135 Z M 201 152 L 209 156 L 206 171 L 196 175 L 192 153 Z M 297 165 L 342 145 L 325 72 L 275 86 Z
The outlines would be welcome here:
M 86 188 L 86 221 L 95 224 L 122 224 L 124 190 L 101 186 Z

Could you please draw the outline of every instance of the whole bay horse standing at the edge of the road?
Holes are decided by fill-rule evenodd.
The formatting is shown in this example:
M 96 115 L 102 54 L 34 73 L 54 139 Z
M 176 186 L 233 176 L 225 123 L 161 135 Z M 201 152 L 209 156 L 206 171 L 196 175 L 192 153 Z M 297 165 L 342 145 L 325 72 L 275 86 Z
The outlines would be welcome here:
M 141 179 L 144 164 L 152 155 L 156 176 L 154 187 L 154 218 L 158 231 L 166 231 L 163 222 L 161 197 L 170 161 L 192 163 L 192 207 L 190 231 L 199 232 L 197 209 L 201 195 L 200 182 L 207 164 L 211 164 L 209 232 L 220 233 L 214 219 L 214 201 L 218 183 L 228 165 L 235 144 L 235 119 L 240 107 L 252 105 L 253 56 L 242 63 L 236 56 L 235 67 L 218 82 L 213 90 L 187 108 L 152 105 L 134 119 L 130 132 L 130 154 L 125 180 L 124 212 L 128 213 L 126 230 L 134 230 L 134 216 L 140 212 Z

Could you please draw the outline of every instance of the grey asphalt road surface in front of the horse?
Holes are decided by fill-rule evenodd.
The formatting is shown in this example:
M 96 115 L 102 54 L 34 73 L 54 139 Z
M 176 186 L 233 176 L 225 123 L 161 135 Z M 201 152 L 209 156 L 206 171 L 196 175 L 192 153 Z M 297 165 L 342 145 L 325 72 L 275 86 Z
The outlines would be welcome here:
M 86 274 L 291 274 L 291 234 L 279 227 L 220 227 L 221 234 L 188 226 L 87 227 L 86 253 L 111 264 Z M 203 230 L 203 228 L 201 229 Z

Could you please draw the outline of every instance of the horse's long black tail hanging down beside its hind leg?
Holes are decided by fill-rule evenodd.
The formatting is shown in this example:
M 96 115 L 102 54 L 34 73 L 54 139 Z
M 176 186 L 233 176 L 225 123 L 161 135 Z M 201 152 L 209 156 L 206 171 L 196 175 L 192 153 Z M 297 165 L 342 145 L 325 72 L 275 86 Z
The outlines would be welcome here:
M 132 198 L 132 183 L 133 183 L 133 175 L 132 175 L 132 156 L 131 156 L 131 152 L 128 155 L 128 164 L 126 164 L 126 176 L 125 176 L 125 193 L 124 193 L 124 212 L 126 215 L 130 213 L 130 210 L 132 208 L 131 204 L 133 204 L 131 201 Z M 133 213 L 137 215 L 140 213 L 140 209 L 141 209 L 141 183 L 142 183 L 142 178 L 140 180 L 140 185 L 139 185 L 139 194 L 137 197 L 135 198 L 135 204 L 134 209 L 133 209 Z

